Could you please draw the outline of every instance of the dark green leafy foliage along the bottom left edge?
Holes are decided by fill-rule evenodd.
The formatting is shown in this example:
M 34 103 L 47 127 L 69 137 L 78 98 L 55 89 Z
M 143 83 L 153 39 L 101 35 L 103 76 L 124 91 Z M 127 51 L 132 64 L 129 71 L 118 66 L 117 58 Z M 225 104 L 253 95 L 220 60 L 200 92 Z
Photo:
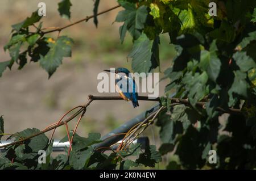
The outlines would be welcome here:
M 3 132 L 3 118 L 0 117 L 0 128 Z M 38 133 L 38 129 L 25 129 L 24 131 L 13 134 L 9 139 L 18 141 L 22 138 Z M 70 136 L 72 136 L 70 132 Z M 154 167 L 155 163 L 161 160 L 160 154 L 155 146 L 148 146 L 143 153 L 140 144 L 130 145 L 130 148 L 121 153 L 112 153 L 110 155 L 101 153 L 95 149 L 95 144 L 100 143 L 100 133 L 89 133 L 88 138 L 75 134 L 72 144 L 71 154 L 65 154 L 52 157 L 52 144 L 49 143 L 45 134 L 39 134 L 30 140 L 23 141 L 19 145 L 12 145 L 6 148 L 5 153 L 0 157 L 0 169 L 129 169 L 139 165 Z M 65 136 L 61 142 L 68 141 Z M 39 151 L 46 151 L 46 160 L 44 163 L 38 162 L 40 159 Z M 139 155 L 135 161 L 127 159 L 131 156 Z M 144 159 L 142 159 L 143 157 Z

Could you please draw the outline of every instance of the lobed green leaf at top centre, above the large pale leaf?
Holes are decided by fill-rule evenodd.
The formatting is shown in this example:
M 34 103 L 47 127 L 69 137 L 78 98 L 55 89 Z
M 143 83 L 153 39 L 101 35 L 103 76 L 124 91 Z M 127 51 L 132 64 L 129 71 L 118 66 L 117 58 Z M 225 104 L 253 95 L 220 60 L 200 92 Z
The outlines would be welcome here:
M 134 40 L 138 39 L 141 35 L 142 29 L 147 19 L 147 6 L 140 6 L 136 9 L 134 3 L 119 1 L 120 5 L 125 8 L 123 11 L 119 11 L 115 22 L 124 22 L 119 28 L 119 34 L 121 42 L 125 37 L 125 33 L 128 30 Z

